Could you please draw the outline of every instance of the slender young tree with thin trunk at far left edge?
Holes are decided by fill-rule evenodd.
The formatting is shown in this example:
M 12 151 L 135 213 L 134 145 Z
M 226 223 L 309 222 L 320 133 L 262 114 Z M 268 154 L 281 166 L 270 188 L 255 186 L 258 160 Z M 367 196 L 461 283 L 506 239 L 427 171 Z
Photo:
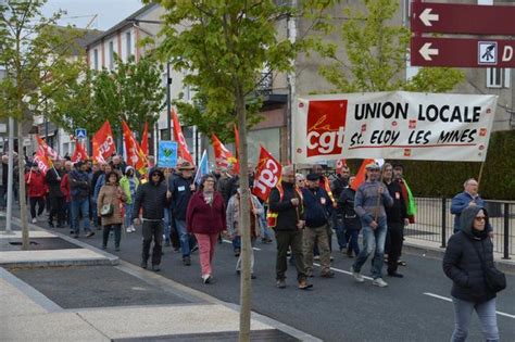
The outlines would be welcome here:
M 73 54 L 75 31 L 55 34 L 58 12 L 41 15 L 46 0 L 7 0 L 0 3 L 0 65 L 8 77 L 0 83 L 0 116 L 18 121 L 18 145 L 24 123 L 40 114 L 53 93 L 75 75 L 67 58 Z M 18 159 L 20 198 L 25 199 L 24 159 Z M 23 249 L 28 250 L 27 205 L 21 201 Z

